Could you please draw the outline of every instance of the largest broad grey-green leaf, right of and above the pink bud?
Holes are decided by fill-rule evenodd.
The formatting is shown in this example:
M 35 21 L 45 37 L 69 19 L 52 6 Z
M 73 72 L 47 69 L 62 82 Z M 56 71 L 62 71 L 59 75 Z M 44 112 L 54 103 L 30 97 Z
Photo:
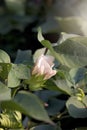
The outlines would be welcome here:
M 69 68 L 87 65 L 87 37 L 73 37 L 54 47 L 56 57 Z

